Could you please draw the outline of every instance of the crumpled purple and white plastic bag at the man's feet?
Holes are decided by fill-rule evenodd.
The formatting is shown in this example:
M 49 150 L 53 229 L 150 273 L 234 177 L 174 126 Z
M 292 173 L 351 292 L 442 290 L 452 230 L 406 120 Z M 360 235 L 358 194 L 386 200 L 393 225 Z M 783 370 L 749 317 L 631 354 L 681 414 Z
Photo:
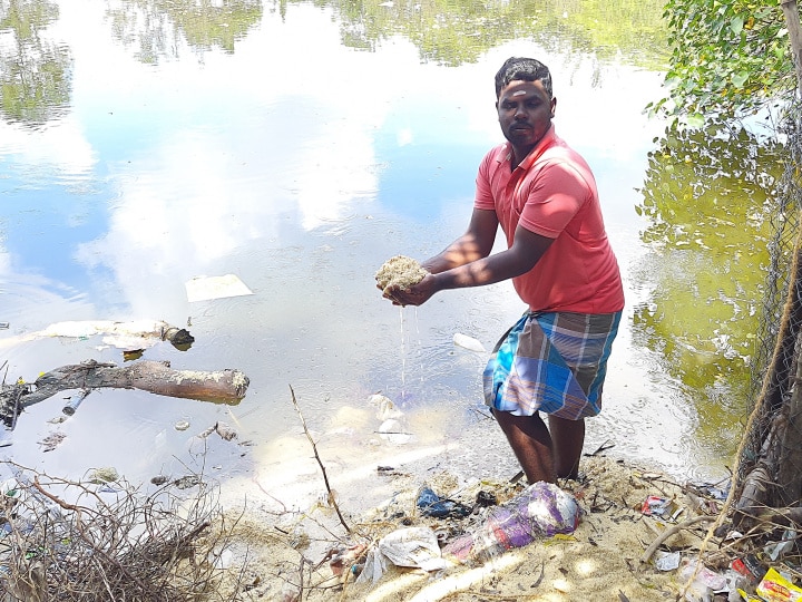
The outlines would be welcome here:
M 538 537 L 574 533 L 578 524 L 579 505 L 574 496 L 557 485 L 538 482 L 490 511 L 478 530 L 450 542 L 443 554 L 460 561 L 486 561 Z

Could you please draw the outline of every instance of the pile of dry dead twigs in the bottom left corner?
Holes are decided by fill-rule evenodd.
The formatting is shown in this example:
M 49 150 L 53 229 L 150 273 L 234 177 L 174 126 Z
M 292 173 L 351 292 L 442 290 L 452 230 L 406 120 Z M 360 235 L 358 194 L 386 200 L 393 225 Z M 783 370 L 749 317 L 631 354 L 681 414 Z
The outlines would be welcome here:
M 216 487 L 199 478 L 187 497 L 170 486 L 146 495 L 123 480 L 70 482 L 9 466 L 16 478 L 3 485 L 0 507 L 3 600 L 223 600 L 215 559 L 235 525 L 225 524 Z

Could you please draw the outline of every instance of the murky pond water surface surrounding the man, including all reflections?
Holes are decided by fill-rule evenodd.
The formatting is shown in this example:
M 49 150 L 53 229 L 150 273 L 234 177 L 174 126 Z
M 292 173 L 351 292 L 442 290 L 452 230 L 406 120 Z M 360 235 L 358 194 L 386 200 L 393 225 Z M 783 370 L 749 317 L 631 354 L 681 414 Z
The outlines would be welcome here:
M 594 10 L 0 3 L 6 380 L 88 359 L 124 363 L 101 336 L 32 337 L 51 323 L 154 319 L 196 340 L 185 351 L 155 344 L 145 359 L 236 368 L 251 381 L 229 406 L 100 389 L 61 424 L 49 420 L 63 399 L 51 398 L 6 434 L 6 456 L 65 476 L 115 466 L 133 482 L 200 466 L 282 497 L 319 479 L 294 392 L 334 475 L 413 460 L 462 463 L 477 477 L 514 469 L 481 406 L 487 358 L 453 343 L 463 333 L 491 348 L 524 311 L 511 287 L 444 292 L 400 310 L 381 299 L 373 274 L 392 255 L 423 259 L 462 233 L 478 163 L 502 139 L 493 74 L 525 55 L 552 70 L 557 132 L 595 171 L 625 278 L 625 320 L 587 450 L 609 440 L 610 453 L 677 475 L 725 474 L 747 412 L 730 377 L 743 380 L 749 353 L 722 330 L 731 314 L 700 308 L 727 297 L 742 270 L 711 270 L 711 256 L 732 263 L 733 253 L 685 227 L 702 217 L 671 222 L 673 203 L 724 193 L 711 192 L 715 174 L 679 175 L 698 165 L 688 153 L 711 154 L 704 142 L 668 139 L 665 124 L 643 113 L 662 94 L 659 3 L 623 3 L 615 10 L 625 18 Z M 610 19 L 630 29 L 610 37 Z M 672 148 L 682 155 L 676 168 Z M 725 161 L 724 151 L 713 155 Z M 683 305 L 677 291 L 696 290 L 702 273 L 713 292 Z M 224 274 L 252 294 L 188 300 L 187 281 Z M 725 336 L 726 346 L 694 342 Z M 677 348 L 694 348 L 693 361 Z M 404 443 L 376 433 L 376 392 L 404 412 Z M 174 428 L 183 420 L 188 430 Z M 218 420 L 236 428 L 236 441 L 193 436 Z M 43 452 L 53 433 L 66 438 Z M 454 441 L 470 448 L 478 433 L 498 445 L 449 452 Z

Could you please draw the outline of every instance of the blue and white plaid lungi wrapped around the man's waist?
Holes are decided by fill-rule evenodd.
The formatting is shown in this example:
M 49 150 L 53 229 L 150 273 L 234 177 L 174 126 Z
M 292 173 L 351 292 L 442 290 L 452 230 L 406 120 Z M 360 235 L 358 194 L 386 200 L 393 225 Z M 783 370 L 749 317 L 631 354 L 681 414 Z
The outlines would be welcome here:
M 525 313 L 488 361 L 485 402 L 517 416 L 596 416 L 620 317 L 620 311 Z

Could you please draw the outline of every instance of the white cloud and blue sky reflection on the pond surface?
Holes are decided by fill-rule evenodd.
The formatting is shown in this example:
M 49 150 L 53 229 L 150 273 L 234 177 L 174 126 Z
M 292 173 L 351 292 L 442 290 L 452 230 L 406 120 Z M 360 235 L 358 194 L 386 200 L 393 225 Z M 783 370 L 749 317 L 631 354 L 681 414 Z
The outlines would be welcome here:
M 69 113 L 37 129 L 0 122 L 0 320 L 12 322 L 9 336 L 67 319 L 190 323 L 190 351 L 155 348 L 148 357 L 239 368 L 252 381 L 233 409 L 104 392 L 137 402 L 102 412 L 89 404 L 63 428 L 75 439 L 94 431 L 91 448 L 102 448 L 106 463 L 126 463 L 136 447 L 111 449 L 120 437 L 158 441 L 159 457 L 183 453 L 186 436 L 170 425 L 189 416 L 198 429 L 234 420 L 243 439 L 256 441 L 254 466 L 278 465 L 282 441 L 299 440 L 287 383 L 320 433 L 351 417 L 348 437 L 326 439 L 332 454 L 374 449 L 365 443 L 375 425 L 364 404 L 378 390 L 419 425 L 431 424 L 421 416 L 433 407 L 450 408 L 456 418 L 438 419 L 439 437 L 463 428 L 479 404 L 485 358 L 456 350 L 451 338 L 464 332 L 492 347 L 522 311 L 511 287 L 447 292 L 400 314 L 372 276 L 384 259 L 433 254 L 467 225 L 478 163 L 501 142 L 492 77 L 510 55 L 552 68 L 557 132 L 595 169 L 629 305 L 647 294 L 632 276 L 643 253 L 633 207 L 663 130 L 642 114 L 659 74 L 527 41 L 458 68 L 422 64 L 402 38 L 356 51 L 342 46 L 330 10 L 307 4 L 265 13 L 233 54 L 180 42 L 179 58 L 151 65 L 114 39 L 101 7 L 62 2 L 48 30 L 74 57 Z M 254 295 L 187 301 L 187 280 L 224 273 Z M 616 344 L 609 409 L 590 427 L 589 446 L 615 436 L 623 454 L 681 469 L 698 452 L 688 440 L 691 410 L 671 381 L 651 372 L 648 352 L 632 347 L 627 328 Z M 65 346 L 4 350 L 11 373 L 27 380 L 56 361 L 119 361 L 97 341 Z M 16 453 L 69 466 L 60 450 L 37 453 L 31 441 L 46 411 L 32 414 L 16 433 L 29 437 Z M 155 470 L 154 449 L 130 470 Z

